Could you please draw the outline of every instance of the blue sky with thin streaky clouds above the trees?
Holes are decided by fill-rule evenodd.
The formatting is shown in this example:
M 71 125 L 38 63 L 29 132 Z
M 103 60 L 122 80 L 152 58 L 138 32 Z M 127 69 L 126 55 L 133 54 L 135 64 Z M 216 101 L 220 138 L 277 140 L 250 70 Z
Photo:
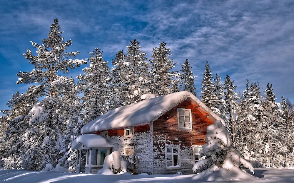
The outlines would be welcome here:
M 165 41 L 173 59 L 190 60 L 197 94 L 204 64 L 213 74 L 228 74 L 242 92 L 246 79 L 269 82 L 281 95 L 294 101 L 294 1 L 0 1 L 0 109 L 16 91 L 18 71 L 33 69 L 23 57 L 30 41 L 41 43 L 50 23 L 59 19 L 69 51 L 88 57 L 95 47 L 111 61 L 129 40 L 142 50 Z M 32 49 L 33 51 L 34 49 Z M 70 76 L 83 73 L 81 68 Z

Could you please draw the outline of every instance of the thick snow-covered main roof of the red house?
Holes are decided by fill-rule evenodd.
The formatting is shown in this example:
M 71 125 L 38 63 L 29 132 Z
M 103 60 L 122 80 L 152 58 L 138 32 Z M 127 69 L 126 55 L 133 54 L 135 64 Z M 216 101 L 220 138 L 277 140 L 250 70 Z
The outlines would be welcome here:
M 193 103 L 199 105 L 199 110 L 206 111 L 208 118 L 212 120 L 219 119 L 225 124 L 223 119 L 203 104 L 195 95 L 190 92 L 181 91 L 110 110 L 83 126 L 81 133 L 87 134 L 94 131 L 150 123 L 188 98 L 191 99 L 191 102 L 193 101 Z

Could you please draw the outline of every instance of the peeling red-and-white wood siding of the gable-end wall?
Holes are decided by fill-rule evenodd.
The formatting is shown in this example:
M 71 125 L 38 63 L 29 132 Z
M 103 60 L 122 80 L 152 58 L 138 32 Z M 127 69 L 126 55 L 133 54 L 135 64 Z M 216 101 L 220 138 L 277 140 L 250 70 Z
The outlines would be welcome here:
M 195 105 L 194 105 L 195 106 Z M 192 131 L 178 130 L 177 108 L 191 109 Z M 206 127 L 213 124 L 193 105 L 185 100 L 153 122 L 153 173 L 192 173 L 192 145 L 206 143 Z M 165 144 L 181 146 L 181 170 L 165 170 Z

